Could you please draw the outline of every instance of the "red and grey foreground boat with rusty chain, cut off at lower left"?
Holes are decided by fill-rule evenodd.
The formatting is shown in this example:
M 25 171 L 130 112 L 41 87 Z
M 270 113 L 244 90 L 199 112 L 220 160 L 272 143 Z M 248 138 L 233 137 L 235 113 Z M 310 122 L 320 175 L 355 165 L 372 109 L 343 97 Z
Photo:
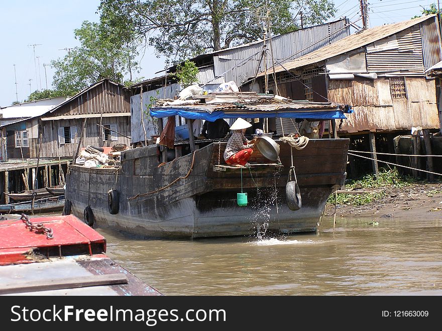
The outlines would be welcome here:
M 106 239 L 75 216 L 8 218 L 0 295 L 161 295 L 109 259 Z

